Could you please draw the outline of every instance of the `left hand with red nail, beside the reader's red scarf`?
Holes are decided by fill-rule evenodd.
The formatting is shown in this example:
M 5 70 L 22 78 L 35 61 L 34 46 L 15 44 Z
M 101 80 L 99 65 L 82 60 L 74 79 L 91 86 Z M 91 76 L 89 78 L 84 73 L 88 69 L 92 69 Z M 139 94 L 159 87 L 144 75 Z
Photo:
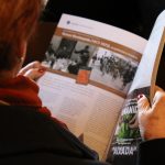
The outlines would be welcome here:
M 33 80 L 36 80 L 44 75 L 45 70 L 46 68 L 43 67 L 40 62 L 35 61 L 23 67 L 18 75 L 23 75 Z

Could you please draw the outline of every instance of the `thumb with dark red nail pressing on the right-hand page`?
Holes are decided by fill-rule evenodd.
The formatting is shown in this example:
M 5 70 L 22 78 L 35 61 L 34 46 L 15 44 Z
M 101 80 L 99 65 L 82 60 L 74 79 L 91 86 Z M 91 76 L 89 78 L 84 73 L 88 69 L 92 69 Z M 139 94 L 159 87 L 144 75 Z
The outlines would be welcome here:
M 150 102 L 148 99 L 144 95 L 140 95 L 138 97 L 138 110 L 148 110 L 150 109 Z

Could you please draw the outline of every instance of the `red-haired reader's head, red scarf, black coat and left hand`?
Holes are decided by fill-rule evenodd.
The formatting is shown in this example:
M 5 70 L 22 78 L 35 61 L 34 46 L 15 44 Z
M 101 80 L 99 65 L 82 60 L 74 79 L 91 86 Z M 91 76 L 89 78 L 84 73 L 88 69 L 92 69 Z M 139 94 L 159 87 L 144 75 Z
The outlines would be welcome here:
M 42 0 L 0 0 L 0 164 L 107 165 L 38 98 L 38 62 L 22 67 Z

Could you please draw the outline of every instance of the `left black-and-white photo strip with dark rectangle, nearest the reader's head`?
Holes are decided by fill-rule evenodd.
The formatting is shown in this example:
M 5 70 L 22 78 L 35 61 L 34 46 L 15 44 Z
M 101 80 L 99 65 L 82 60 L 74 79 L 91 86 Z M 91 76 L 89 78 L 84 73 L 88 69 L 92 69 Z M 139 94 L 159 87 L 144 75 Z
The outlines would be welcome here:
M 77 75 L 80 67 L 89 65 L 96 48 L 84 42 L 54 35 L 42 63 L 52 69 Z

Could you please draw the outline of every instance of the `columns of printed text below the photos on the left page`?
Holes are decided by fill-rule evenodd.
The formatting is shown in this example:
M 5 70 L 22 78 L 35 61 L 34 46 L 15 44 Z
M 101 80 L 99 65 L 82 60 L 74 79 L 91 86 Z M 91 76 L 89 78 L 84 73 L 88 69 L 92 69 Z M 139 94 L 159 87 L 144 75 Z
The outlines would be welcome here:
M 37 84 L 40 97 L 53 117 L 65 122 L 84 143 L 102 158 L 124 99 L 91 85 L 75 84 L 76 79 L 46 73 Z

